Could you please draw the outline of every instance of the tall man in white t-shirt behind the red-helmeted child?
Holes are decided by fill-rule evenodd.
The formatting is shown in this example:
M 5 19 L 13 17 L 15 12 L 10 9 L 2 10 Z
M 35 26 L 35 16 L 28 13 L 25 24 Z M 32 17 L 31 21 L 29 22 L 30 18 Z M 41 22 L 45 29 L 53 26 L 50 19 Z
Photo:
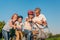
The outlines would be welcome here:
M 36 8 L 34 12 L 35 17 L 33 18 L 33 22 L 38 26 L 39 30 L 44 33 L 44 27 L 47 26 L 46 17 L 41 14 L 40 8 Z M 45 40 L 44 37 L 41 37 L 41 39 Z

